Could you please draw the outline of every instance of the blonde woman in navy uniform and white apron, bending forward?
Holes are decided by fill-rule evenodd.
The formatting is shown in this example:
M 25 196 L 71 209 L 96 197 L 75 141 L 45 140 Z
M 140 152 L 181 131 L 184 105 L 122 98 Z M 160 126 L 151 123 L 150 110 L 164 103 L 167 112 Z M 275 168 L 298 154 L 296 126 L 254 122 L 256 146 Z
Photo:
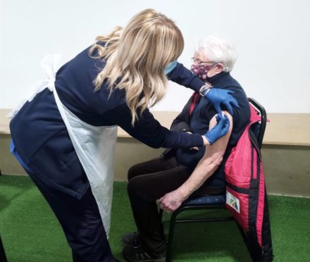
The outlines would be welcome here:
M 176 62 L 183 45 L 175 23 L 147 9 L 124 29 L 97 37 L 57 73 L 57 57 L 46 57 L 48 79 L 15 112 L 11 151 L 61 223 L 73 261 L 116 261 L 106 235 L 118 126 L 154 148 L 209 145 L 228 131 L 222 117 L 204 136 L 172 132 L 149 112 L 166 93 L 168 79 L 200 91 L 218 113 L 221 104 L 228 111 L 237 106 L 228 92 L 209 88 Z

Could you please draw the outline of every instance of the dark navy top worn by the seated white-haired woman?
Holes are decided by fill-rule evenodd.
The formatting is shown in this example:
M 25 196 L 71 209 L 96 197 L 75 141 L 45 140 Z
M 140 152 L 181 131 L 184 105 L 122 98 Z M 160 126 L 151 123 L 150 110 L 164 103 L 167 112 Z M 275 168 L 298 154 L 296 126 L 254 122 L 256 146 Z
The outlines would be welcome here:
M 247 95 L 240 86 L 240 84 L 231 77 L 230 73 L 220 73 L 209 79 L 212 85 L 221 88 L 231 90 L 234 93 L 232 96 L 237 100 L 239 107 L 233 107 L 233 130 L 228 141 L 228 146 L 225 151 L 223 161 L 218 169 L 209 177 L 206 184 L 213 187 L 225 187 L 225 173 L 224 166 L 231 149 L 236 146 L 238 139 L 241 137 L 245 127 L 249 124 L 249 102 Z M 212 104 L 199 96 L 194 110 L 190 114 L 190 106 L 192 104 L 192 97 L 187 101 L 187 104 L 182 109 L 182 112 L 173 120 L 171 130 L 199 133 L 204 135 L 209 130 L 209 123 L 211 118 L 216 115 L 215 108 Z M 225 110 L 225 108 L 223 108 Z M 197 166 L 199 160 L 204 156 L 206 146 L 199 147 L 199 150 L 190 149 L 176 149 L 171 151 L 178 163 L 187 166 L 191 170 Z M 166 151 L 164 154 L 168 154 Z

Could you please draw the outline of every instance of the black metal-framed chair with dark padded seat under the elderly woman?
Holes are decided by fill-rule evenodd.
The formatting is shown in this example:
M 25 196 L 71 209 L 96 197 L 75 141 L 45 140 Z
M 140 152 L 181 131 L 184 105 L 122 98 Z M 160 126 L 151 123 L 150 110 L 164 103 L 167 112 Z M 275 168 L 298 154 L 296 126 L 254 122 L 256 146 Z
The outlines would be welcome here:
M 252 98 L 249 98 L 249 103 L 252 104 L 261 116 L 261 123 L 260 125 L 256 125 L 254 127 L 256 130 L 254 132 L 257 135 L 257 142 L 259 144 L 259 148 L 261 148 L 261 144 L 263 142 L 263 135 L 266 129 L 266 111 L 263 106 L 261 106 L 257 101 Z M 181 223 L 198 223 L 198 222 L 222 222 L 222 221 L 229 221 L 234 220 L 233 216 L 216 216 L 212 218 L 187 218 L 187 219 L 178 219 L 178 215 L 185 211 L 192 211 L 192 210 L 211 210 L 211 209 L 226 209 L 225 206 L 226 195 L 219 195 L 219 196 L 201 196 L 198 198 L 190 198 L 187 199 L 182 203 L 180 208 L 174 211 L 171 215 L 170 219 L 170 226 L 169 226 L 169 233 L 168 233 L 168 244 L 167 244 L 167 252 L 166 252 L 166 261 L 171 261 L 171 250 L 173 244 L 173 236 L 174 236 L 174 228 L 175 224 Z M 163 210 L 160 211 L 161 217 L 163 215 Z M 242 233 L 242 232 L 241 232 Z

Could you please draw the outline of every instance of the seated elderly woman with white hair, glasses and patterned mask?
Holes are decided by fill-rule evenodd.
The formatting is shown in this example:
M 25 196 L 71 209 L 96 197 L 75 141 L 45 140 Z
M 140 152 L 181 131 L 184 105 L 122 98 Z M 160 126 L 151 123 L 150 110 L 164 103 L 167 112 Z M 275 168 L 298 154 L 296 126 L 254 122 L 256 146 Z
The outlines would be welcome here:
M 165 261 L 166 241 L 156 206 L 175 211 L 189 196 L 225 192 L 223 167 L 231 149 L 249 123 L 249 103 L 240 84 L 230 75 L 236 61 L 231 44 L 217 37 L 199 42 L 192 58 L 192 72 L 204 82 L 233 92 L 239 107 L 230 120 L 228 133 L 210 146 L 173 149 L 140 163 L 128 172 L 128 194 L 137 232 L 123 237 L 123 255 L 128 261 Z M 228 109 L 228 108 L 223 108 Z M 204 134 L 216 125 L 216 108 L 194 93 L 175 118 L 171 130 Z

